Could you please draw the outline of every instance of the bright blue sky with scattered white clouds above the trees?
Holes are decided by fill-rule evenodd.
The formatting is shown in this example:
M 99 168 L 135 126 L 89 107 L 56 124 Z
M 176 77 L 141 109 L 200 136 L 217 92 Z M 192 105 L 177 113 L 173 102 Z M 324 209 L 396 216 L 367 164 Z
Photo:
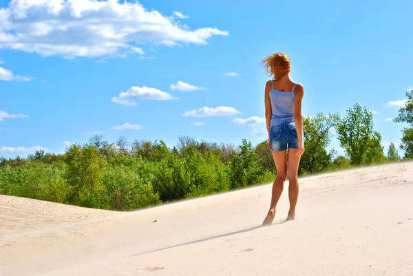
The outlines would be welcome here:
M 0 156 L 97 133 L 255 145 L 273 52 L 290 56 L 304 115 L 366 106 L 387 152 L 413 86 L 412 12 L 409 0 L 0 0 Z

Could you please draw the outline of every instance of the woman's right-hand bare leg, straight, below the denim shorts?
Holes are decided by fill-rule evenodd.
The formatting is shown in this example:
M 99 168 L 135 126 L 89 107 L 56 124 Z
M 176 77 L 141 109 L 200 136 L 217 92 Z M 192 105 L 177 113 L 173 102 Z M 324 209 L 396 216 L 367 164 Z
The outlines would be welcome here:
M 301 156 L 295 156 L 298 149 L 288 149 L 288 199 L 290 200 L 290 211 L 288 211 L 287 220 L 295 219 L 295 206 L 298 200 L 298 166 Z

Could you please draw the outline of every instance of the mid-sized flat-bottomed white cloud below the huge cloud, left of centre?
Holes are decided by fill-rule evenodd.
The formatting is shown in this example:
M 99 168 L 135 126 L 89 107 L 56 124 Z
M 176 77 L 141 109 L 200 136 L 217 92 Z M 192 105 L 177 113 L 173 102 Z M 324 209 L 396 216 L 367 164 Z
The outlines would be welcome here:
M 113 97 L 112 102 L 119 105 L 133 106 L 138 105 L 134 100 L 176 100 L 178 98 L 173 97 L 167 92 L 163 92 L 156 88 L 151 87 L 138 87 L 132 86 L 127 89 L 127 92 L 120 92 L 119 96 Z

